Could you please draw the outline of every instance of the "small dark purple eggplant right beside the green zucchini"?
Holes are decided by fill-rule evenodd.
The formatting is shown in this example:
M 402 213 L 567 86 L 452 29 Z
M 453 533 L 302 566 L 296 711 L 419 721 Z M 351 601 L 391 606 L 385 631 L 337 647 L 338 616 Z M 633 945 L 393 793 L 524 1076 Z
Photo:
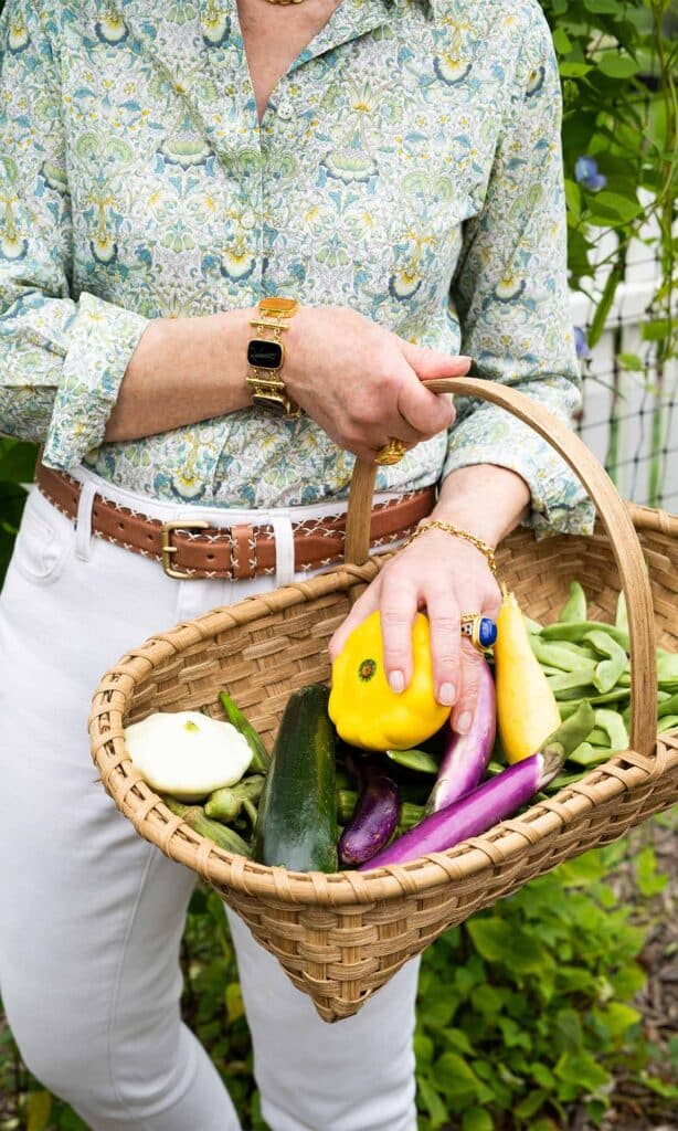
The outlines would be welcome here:
M 356 759 L 360 795 L 339 838 L 342 864 L 363 864 L 388 843 L 398 823 L 400 795 L 392 778 L 372 758 Z

